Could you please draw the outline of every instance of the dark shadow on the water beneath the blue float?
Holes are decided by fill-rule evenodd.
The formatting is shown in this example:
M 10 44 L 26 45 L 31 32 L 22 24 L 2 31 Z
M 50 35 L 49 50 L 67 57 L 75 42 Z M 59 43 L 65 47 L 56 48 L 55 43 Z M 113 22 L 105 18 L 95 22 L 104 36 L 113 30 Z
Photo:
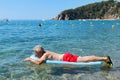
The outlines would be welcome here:
M 52 67 L 51 75 L 62 75 L 62 74 L 78 74 L 78 73 L 84 73 L 84 74 L 93 74 L 95 72 L 103 71 L 108 73 L 112 68 L 109 68 L 108 66 L 84 66 L 84 67 L 76 67 L 76 66 L 70 66 L 70 65 L 64 65 L 60 67 Z

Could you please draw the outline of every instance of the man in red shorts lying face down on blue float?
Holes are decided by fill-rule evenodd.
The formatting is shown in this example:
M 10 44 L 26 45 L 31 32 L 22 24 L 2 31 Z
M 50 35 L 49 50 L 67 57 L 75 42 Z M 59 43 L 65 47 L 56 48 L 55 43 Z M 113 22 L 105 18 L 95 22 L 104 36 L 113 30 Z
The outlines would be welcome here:
M 91 62 L 91 61 L 104 61 L 106 62 L 110 67 L 113 66 L 112 61 L 109 56 L 107 57 L 99 57 L 99 56 L 77 56 L 73 55 L 69 52 L 64 54 L 58 54 L 55 52 L 51 52 L 48 50 L 44 50 L 43 47 L 40 45 L 37 45 L 34 47 L 34 53 L 39 58 L 39 60 L 33 60 L 32 58 L 28 57 L 24 59 L 24 61 L 30 61 L 35 64 L 41 64 L 46 60 L 59 60 L 59 61 L 67 61 L 67 62 Z

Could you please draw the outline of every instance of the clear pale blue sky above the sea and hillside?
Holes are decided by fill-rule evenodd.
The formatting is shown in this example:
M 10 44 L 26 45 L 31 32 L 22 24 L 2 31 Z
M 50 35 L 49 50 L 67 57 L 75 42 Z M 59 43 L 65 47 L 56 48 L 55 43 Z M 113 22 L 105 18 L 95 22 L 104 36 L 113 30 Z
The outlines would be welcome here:
M 102 0 L 0 0 L 0 20 L 46 20 L 62 11 Z

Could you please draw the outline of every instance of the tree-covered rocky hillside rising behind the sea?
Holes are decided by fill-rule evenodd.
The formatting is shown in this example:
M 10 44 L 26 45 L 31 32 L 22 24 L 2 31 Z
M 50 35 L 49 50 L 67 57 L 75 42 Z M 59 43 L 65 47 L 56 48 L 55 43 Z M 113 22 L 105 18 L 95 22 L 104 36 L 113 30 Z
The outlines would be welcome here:
M 120 2 L 102 1 L 62 11 L 54 20 L 120 19 Z

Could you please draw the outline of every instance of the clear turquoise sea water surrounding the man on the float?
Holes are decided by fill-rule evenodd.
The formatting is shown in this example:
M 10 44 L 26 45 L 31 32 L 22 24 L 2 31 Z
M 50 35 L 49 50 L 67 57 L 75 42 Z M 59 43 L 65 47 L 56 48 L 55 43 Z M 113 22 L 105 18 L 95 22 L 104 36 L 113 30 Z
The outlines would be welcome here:
M 109 55 L 114 66 L 109 69 L 23 62 L 38 44 L 60 54 Z M 0 21 L 1 80 L 120 80 L 119 56 L 119 20 Z

